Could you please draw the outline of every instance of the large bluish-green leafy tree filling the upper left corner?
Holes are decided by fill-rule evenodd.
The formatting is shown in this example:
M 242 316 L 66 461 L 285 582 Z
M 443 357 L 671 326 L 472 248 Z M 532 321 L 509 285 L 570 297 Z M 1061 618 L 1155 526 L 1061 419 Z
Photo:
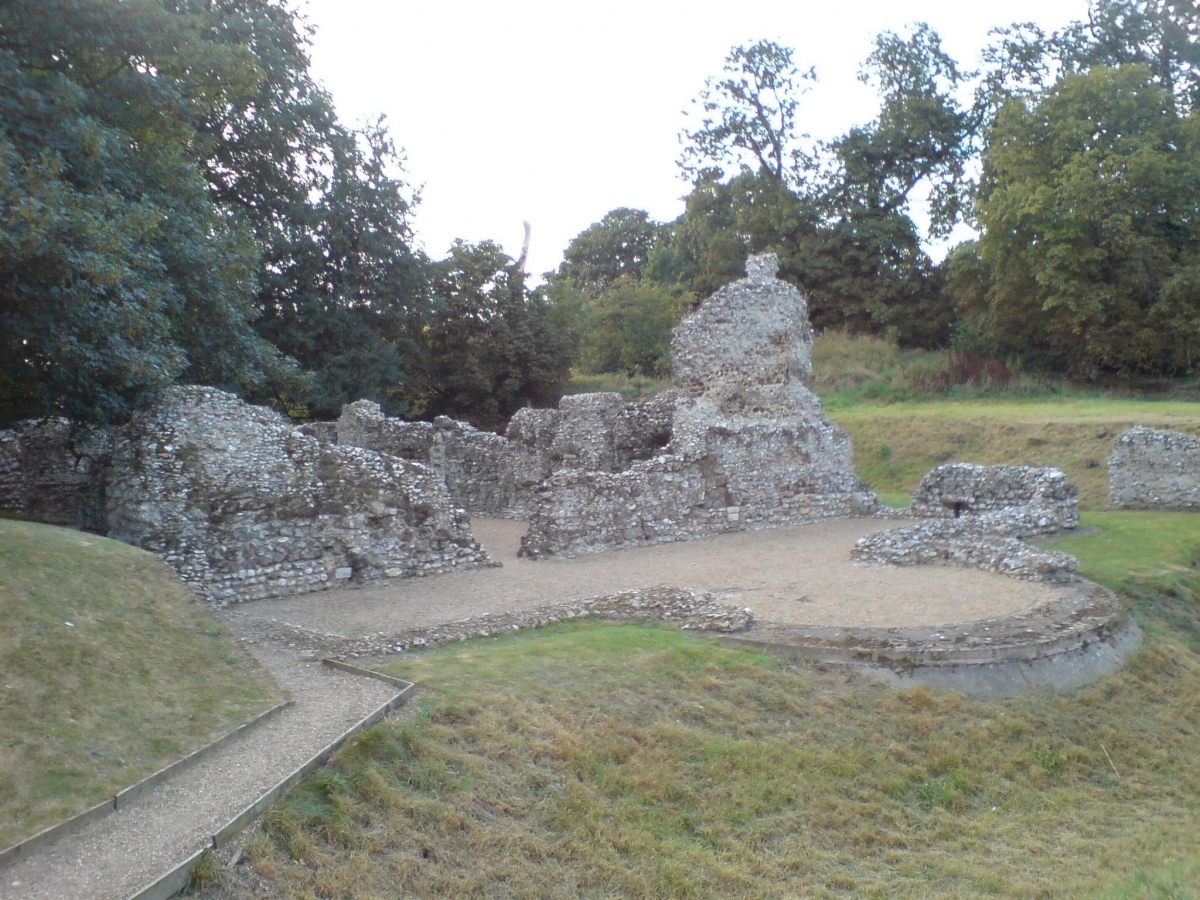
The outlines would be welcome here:
M 0 7 L 0 418 L 119 421 L 174 380 L 282 380 L 250 325 L 251 235 L 194 155 L 198 110 L 253 78 L 152 0 Z

